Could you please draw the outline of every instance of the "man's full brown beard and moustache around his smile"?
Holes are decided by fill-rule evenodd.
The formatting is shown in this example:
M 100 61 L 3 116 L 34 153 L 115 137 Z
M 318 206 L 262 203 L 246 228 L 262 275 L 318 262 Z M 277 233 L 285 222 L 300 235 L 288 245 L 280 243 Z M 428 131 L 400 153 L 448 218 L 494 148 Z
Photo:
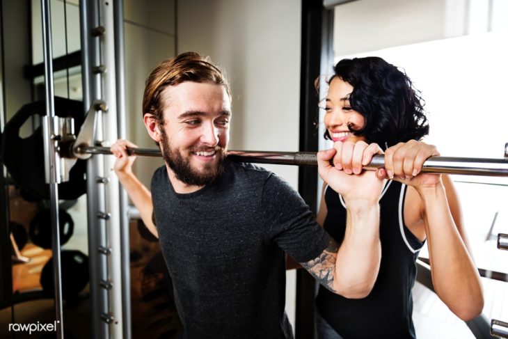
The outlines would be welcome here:
M 166 164 L 168 164 L 169 168 L 173 170 L 173 173 L 175 173 L 177 180 L 180 180 L 184 184 L 205 186 L 214 182 L 219 175 L 224 173 L 224 148 L 215 146 L 215 156 L 217 157 L 216 164 L 205 164 L 205 166 L 203 166 L 203 171 L 196 171 L 191 165 L 191 152 L 197 152 L 199 150 L 209 151 L 209 148 L 196 148 L 194 150 L 189 150 L 189 157 L 183 157 L 179 150 L 171 148 L 166 131 L 164 131 L 164 127 L 161 127 L 160 130 L 162 157 L 164 158 L 164 161 L 166 161 Z

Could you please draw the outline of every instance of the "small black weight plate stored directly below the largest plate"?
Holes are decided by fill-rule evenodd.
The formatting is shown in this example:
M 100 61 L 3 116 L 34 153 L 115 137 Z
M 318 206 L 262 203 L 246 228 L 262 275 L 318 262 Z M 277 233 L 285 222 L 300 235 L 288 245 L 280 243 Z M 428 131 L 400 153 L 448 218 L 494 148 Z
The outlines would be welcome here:
M 60 244 L 63 245 L 69 241 L 74 233 L 74 221 L 72 216 L 65 210 L 60 210 L 58 214 L 60 222 Z M 50 211 L 40 210 L 30 222 L 29 235 L 33 244 L 43 249 L 51 249 L 51 215 Z

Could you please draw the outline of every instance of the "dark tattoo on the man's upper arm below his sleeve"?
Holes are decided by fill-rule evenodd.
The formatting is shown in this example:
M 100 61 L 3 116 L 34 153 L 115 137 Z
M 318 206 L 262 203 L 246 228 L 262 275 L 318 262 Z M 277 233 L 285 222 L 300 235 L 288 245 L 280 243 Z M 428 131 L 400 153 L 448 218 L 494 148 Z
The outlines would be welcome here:
M 337 259 L 337 251 L 339 245 L 331 240 L 326 249 L 315 259 L 308 262 L 300 262 L 300 265 L 324 287 L 331 292 L 333 289 L 333 276 L 335 275 L 335 260 Z

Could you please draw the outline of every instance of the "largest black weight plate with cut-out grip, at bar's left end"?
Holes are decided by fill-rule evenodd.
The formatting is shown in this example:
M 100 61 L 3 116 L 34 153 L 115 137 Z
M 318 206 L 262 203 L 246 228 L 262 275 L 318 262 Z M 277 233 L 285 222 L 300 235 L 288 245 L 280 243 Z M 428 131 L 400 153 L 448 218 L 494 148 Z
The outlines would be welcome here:
M 83 123 L 83 103 L 63 97 L 54 97 L 57 116 L 72 118 L 77 128 Z M 34 129 L 27 138 L 19 136 L 19 129 L 29 119 L 45 114 L 45 100 L 24 105 L 6 123 L 0 149 L 11 178 L 29 194 L 33 200 L 49 199 L 49 185 L 45 182 L 45 161 L 42 143 L 42 128 Z M 34 121 L 34 125 L 37 121 Z M 61 199 L 77 199 L 86 192 L 86 161 L 78 160 L 70 168 L 69 182 L 58 186 Z

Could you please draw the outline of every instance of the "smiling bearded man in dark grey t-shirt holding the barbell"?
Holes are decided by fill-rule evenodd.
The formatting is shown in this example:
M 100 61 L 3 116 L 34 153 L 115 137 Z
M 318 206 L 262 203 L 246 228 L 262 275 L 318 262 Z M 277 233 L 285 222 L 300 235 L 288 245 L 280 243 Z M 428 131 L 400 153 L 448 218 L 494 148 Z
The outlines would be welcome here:
M 132 173 L 134 157 L 126 152 L 132 143 L 111 147 L 118 158 L 114 169 L 159 237 L 183 338 L 292 338 L 284 312 L 285 253 L 335 293 L 370 292 L 381 253 L 383 182 L 374 173 L 344 180 L 329 163 L 335 150 L 318 155 L 324 180 L 346 192 L 353 232 L 343 243 L 351 246 L 339 250 L 284 180 L 226 159 L 231 95 L 223 74 L 207 59 L 187 52 L 159 64 L 147 79 L 143 112 L 165 162 L 153 175 L 151 193 Z M 343 158 L 376 152 L 377 145 L 359 144 Z

